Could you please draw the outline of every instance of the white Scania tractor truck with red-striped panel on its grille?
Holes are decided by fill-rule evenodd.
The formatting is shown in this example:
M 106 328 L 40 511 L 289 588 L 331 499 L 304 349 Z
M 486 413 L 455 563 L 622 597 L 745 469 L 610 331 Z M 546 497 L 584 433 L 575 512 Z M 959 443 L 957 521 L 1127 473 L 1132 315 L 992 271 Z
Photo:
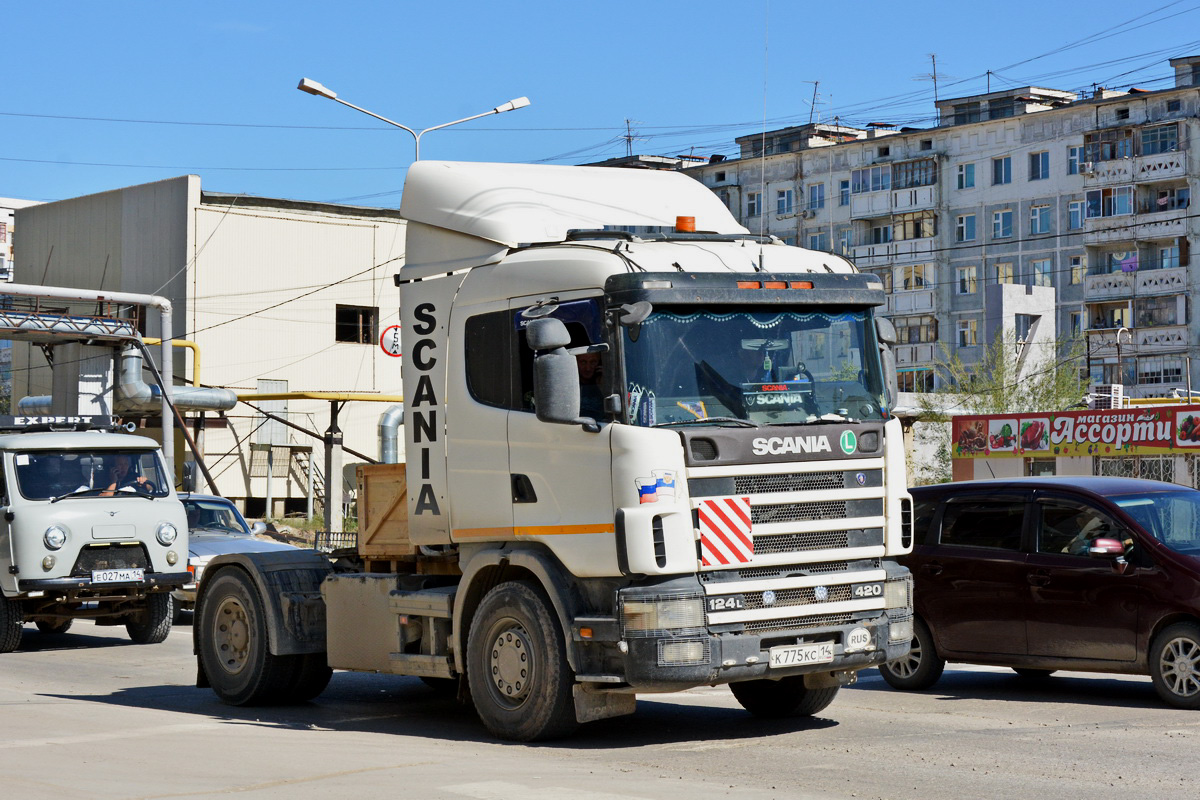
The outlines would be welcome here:
M 420 675 L 534 740 L 701 685 L 812 715 L 907 652 L 877 278 L 678 173 L 418 162 L 401 210 L 404 464 L 354 549 L 214 559 L 202 685 Z

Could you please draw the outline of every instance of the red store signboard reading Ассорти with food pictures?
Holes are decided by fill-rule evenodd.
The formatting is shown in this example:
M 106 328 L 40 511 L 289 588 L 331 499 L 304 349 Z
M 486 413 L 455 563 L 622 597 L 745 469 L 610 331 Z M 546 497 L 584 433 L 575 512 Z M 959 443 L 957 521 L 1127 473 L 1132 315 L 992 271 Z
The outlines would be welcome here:
M 1200 453 L 1200 405 L 965 415 L 952 433 L 954 458 Z

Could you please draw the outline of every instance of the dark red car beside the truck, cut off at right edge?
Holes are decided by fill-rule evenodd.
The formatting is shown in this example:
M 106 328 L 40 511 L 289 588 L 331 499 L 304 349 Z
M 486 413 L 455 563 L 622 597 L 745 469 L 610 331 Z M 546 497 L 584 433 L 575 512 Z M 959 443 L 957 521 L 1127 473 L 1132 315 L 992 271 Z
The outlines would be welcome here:
M 964 481 L 911 489 L 917 619 L 895 688 L 947 661 L 1148 674 L 1200 708 L 1200 492 L 1121 477 Z

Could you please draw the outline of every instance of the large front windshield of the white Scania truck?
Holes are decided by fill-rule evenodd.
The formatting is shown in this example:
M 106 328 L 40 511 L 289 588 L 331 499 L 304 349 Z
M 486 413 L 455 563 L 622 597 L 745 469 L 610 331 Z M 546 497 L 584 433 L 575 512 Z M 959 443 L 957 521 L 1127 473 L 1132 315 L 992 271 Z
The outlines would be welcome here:
M 624 349 L 631 425 L 884 419 L 864 309 L 656 309 Z

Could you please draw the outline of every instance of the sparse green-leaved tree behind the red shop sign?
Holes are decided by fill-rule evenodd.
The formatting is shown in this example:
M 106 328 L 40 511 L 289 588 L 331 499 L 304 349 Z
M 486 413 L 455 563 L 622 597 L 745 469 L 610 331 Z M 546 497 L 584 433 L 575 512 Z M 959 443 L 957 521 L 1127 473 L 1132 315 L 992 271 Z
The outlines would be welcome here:
M 1028 363 L 1012 342 L 996 339 L 973 363 L 944 344 L 935 369 L 941 389 L 919 396 L 918 450 L 934 456 L 913 465 L 917 483 L 950 480 L 950 417 L 962 414 L 1036 414 L 1078 405 L 1087 392 L 1081 367 L 1087 357 L 1080 338 L 1054 344 L 1054 357 Z

